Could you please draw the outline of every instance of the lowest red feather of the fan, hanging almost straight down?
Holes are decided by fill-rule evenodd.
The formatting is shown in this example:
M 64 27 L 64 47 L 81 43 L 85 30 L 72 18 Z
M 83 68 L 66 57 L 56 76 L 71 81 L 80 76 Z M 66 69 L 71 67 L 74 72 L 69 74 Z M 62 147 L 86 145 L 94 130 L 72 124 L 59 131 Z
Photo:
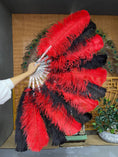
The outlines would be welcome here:
M 33 98 L 34 99 L 34 98 Z M 26 134 L 28 147 L 32 151 L 40 151 L 48 144 L 49 137 L 43 119 L 32 97 L 27 94 L 24 99 L 21 124 Z

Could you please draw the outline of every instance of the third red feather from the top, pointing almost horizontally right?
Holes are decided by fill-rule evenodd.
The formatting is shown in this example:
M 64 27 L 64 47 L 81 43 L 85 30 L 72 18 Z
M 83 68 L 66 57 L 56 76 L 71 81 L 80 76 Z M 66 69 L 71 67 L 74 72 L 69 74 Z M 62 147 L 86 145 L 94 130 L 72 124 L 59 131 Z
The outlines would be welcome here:
M 61 94 L 61 89 L 65 91 L 79 92 L 86 91 L 88 82 L 101 86 L 107 77 L 107 71 L 103 68 L 97 69 L 84 69 L 78 71 L 76 68 L 73 71 L 49 74 L 48 80 L 52 79 L 52 84 L 47 80 L 45 84 L 50 90 L 57 90 Z

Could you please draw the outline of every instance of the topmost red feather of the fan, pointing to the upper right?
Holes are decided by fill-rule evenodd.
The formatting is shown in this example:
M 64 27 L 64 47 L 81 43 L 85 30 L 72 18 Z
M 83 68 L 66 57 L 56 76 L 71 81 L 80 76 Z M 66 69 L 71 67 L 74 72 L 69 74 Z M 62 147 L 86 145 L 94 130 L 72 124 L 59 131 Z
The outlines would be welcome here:
M 69 48 L 90 22 L 90 15 L 86 10 L 71 14 L 63 21 L 54 24 L 47 32 L 46 37 L 40 40 L 38 55 L 42 55 L 50 45 L 47 55 L 56 57 Z M 69 39 L 68 39 L 69 38 Z

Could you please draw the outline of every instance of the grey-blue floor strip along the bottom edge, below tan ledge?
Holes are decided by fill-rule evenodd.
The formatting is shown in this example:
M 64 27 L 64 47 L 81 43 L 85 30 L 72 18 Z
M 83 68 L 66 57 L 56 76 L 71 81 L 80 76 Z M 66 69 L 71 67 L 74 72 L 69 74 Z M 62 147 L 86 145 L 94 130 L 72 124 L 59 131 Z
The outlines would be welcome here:
M 81 146 L 20 153 L 14 149 L 0 149 L 0 157 L 118 157 L 117 148 L 117 146 Z

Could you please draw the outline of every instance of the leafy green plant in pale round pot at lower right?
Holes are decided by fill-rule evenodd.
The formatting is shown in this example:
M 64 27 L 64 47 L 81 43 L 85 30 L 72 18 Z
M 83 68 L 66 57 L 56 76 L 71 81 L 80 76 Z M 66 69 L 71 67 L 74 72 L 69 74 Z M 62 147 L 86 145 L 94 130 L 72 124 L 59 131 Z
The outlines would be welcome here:
M 118 143 L 118 99 L 111 104 L 111 101 L 104 97 L 96 111 L 97 116 L 92 124 L 99 136 L 106 142 Z

